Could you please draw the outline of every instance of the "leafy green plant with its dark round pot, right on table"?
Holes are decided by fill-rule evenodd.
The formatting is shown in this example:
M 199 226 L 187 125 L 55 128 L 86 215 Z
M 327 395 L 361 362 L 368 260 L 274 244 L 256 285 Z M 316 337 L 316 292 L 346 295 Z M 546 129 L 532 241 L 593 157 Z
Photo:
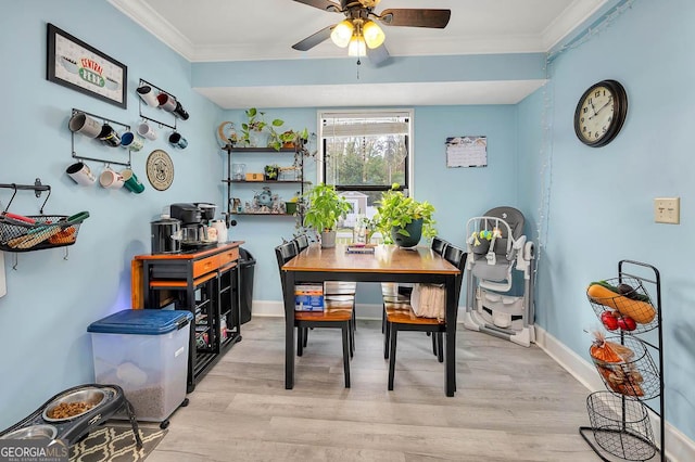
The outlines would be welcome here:
M 393 183 L 391 190 L 383 193 L 375 217 L 384 241 L 391 240 L 401 247 L 416 246 L 422 236 L 437 235 L 434 228 L 434 206 L 427 201 L 418 202 L 399 191 Z

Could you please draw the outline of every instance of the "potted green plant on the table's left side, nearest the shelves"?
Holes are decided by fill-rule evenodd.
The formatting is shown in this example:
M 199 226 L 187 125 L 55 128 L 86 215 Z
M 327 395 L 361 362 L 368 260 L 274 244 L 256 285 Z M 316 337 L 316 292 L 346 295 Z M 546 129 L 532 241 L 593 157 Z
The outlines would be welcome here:
M 306 192 L 308 202 L 304 226 L 314 228 L 321 236 L 321 247 L 336 246 L 338 220 L 352 209 L 345 197 L 338 195 L 333 185 L 318 183 Z

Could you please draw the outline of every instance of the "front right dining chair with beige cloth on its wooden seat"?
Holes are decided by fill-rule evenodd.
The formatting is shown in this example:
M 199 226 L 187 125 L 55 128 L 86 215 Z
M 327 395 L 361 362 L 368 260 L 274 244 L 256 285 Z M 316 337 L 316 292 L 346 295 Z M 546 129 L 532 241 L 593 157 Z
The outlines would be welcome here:
M 468 253 L 453 244 L 446 245 L 443 257 L 460 271 L 456 275 L 455 281 L 455 299 L 458 306 L 460 295 L 460 285 L 464 280 L 464 268 L 466 267 L 466 257 Z M 446 319 L 421 318 L 415 315 L 409 303 L 402 301 L 384 301 L 386 311 L 386 331 L 389 337 L 388 358 L 389 358 L 389 390 L 393 389 L 395 378 L 395 351 L 397 344 L 399 331 L 418 331 L 429 332 L 437 337 L 437 357 L 439 362 L 444 361 L 443 355 L 443 337 L 446 331 Z M 386 349 L 386 345 L 384 345 Z M 387 355 L 384 355 L 386 357 Z

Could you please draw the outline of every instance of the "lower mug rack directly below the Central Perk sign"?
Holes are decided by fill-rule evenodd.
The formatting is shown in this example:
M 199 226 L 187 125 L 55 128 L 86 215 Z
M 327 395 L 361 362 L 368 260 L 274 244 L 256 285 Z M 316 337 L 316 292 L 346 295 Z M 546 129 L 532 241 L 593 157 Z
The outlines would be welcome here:
M 101 125 L 99 128 L 99 120 L 101 121 Z M 85 134 L 85 138 L 98 138 L 101 140 L 101 142 L 104 145 L 108 146 L 113 146 L 113 147 L 119 147 L 121 145 L 121 138 L 117 133 L 117 127 L 121 127 L 122 130 L 121 132 L 126 132 L 126 131 L 130 131 L 130 126 L 119 123 L 117 120 L 112 120 L 110 118 L 100 116 L 100 115 L 96 115 L 96 114 L 90 114 L 86 111 L 81 111 L 81 110 L 77 110 L 77 108 L 73 108 L 73 113 L 72 113 L 72 117 L 71 117 L 71 121 L 70 121 L 70 130 L 71 130 L 71 147 L 72 147 L 72 156 L 73 158 L 79 159 L 79 161 L 93 161 L 93 162 L 102 162 L 105 164 L 116 164 L 116 165 L 124 165 L 126 167 L 130 167 L 130 150 L 126 150 L 128 152 L 128 159 L 127 161 L 121 161 L 121 159 L 113 159 L 113 158 L 98 158 L 98 157 L 87 157 L 80 154 L 77 154 L 76 150 L 75 150 L 75 136 L 81 136 Z M 109 128 L 111 128 L 111 131 L 109 131 Z M 99 130 L 98 134 L 97 130 Z

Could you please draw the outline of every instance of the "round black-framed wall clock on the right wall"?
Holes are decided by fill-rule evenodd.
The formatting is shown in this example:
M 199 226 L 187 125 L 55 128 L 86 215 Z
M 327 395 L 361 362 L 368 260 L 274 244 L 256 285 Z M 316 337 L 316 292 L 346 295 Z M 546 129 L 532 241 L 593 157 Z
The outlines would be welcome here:
M 617 80 L 589 87 L 577 103 L 574 133 L 591 147 L 605 146 L 620 132 L 628 115 L 628 93 Z

